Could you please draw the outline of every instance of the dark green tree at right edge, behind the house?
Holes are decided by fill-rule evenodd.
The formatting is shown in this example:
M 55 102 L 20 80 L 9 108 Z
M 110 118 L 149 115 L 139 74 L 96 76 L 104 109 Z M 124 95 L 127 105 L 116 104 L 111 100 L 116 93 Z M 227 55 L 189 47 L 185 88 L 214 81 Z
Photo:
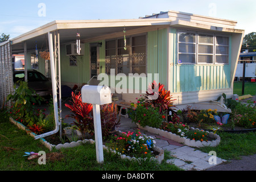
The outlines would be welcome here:
M 249 49 L 249 52 L 256 51 L 256 32 L 251 32 L 244 36 L 241 52 L 245 49 Z

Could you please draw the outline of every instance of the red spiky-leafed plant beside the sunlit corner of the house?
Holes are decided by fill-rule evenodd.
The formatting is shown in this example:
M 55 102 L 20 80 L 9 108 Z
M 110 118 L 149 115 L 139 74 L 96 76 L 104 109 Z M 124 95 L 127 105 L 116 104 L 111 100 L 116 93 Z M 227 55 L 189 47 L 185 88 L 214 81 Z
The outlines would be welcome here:
M 167 91 L 163 84 L 158 84 L 158 98 L 155 100 L 150 98 L 150 96 L 154 95 L 155 86 L 157 86 L 155 81 L 148 86 L 148 92 L 146 92 L 145 96 L 146 102 L 155 108 L 159 107 L 159 113 L 162 113 L 166 110 L 173 110 L 173 107 L 175 107 L 175 99 L 172 99 L 170 91 Z

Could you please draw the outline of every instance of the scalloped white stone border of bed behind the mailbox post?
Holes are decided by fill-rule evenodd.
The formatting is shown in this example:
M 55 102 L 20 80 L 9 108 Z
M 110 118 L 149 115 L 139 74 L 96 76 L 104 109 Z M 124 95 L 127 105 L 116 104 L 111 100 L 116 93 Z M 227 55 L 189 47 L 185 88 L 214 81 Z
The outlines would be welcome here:
M 37 136 L 35 133 L 32 133 L 30 130 L 28 130 L 26 128 L 26 126 L 24 126 L 22 123 L 15 121 L 13 118 L 10 118 L 10 122 L 13 123 L 14 125 L 18 126 L 19 129 L 22 129 L 24 131 L 26 131 L 27 134 L 30 134 L 31 137 L 35 137 Z M 52 151 L 52 148 L 56 148 L 57 150 L 60 150 L 60 148 L 69 148 L 69 147 L 76 147 L 79 146 L 81 143 L 94 143 L 93 139 L 84 139 L 84 140 L 78 140 L 77 142 L 71 142 L 71 143 L 64 143 L 64 144 L 51 144 L 49 142 L 47 142 L 45 139 L 40 138 L 41 142 L 44 144 L 44 146 L 46 146 L 49 151 Z M 105 150 L 109 150 L 108 147 L 106 147 L 105 145 L 103 145 L 103 149 Z M 156 155 L 155 157 L 151 157 L 152 160 L 157 160 L 157 162 L 160 164 L 162 162 L 162 160 L 164 159 L 164 150 L 160 147 L 154 147 L 153 148 L 155 151 L 159 152 L 159 155 Z M 115 150 L 112 150 L 110 148 L 110 151 L 113 152 L 114 154 L 116 153 Z M 131 158 L 130 156 L 126 156 L 126 155 L 121 155 L 120 156 L 121 159 L 129 159 L 129 160 L 138 160 L 141 161 L 142 158 Z

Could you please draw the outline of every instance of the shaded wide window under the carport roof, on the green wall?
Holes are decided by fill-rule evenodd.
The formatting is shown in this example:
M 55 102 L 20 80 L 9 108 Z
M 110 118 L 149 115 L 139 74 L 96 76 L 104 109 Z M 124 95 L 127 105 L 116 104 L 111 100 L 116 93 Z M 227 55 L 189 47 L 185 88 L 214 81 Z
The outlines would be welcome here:
M 106 41 L 105 70 L 115 73 L 146 73 L 146 35 L 126 38 L 126 50 L 123 38 Z

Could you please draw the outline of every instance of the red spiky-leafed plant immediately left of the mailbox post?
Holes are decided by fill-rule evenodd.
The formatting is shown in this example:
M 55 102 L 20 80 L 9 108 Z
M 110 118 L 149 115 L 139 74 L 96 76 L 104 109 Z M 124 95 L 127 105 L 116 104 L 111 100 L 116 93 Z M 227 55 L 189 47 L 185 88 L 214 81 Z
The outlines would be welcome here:
M 86 133 L 93 135 L 93 118 L 90 116 L 92 114 L 93 106 L 82 102 L 81 93 L 75 94 L 72 92 L 72 104 L 65 104 L 73 114 L 68 114 L 66 117 L 74 118 L 72 124 L 81 132 L 82 137 L 85 137 Z

